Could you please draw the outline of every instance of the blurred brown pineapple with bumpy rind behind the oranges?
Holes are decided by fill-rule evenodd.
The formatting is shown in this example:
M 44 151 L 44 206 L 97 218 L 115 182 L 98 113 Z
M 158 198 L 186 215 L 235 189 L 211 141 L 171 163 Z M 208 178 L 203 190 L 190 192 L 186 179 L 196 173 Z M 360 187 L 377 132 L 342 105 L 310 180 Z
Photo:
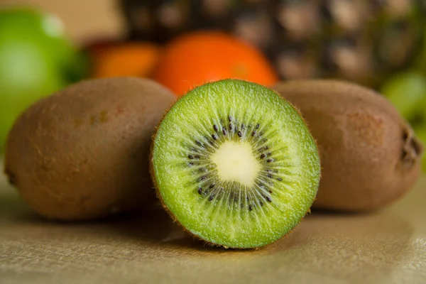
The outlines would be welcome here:
M 220 29 L 261 48 L 280 77 L 378 87 L 422 48 L 423 0 L 121 0 L 131 38 Z

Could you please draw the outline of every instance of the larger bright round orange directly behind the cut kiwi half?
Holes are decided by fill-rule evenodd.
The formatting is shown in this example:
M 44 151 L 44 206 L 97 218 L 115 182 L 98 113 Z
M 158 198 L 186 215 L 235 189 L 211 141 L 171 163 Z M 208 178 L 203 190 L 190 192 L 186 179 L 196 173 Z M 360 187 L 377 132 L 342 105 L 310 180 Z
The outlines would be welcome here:
M 153 73 L 154 80 L 178 95 L 200 84 L 229 78 L 267 86 L 278 82 L 260 50 L 217 31 L 187 33 L 171 41 Z

